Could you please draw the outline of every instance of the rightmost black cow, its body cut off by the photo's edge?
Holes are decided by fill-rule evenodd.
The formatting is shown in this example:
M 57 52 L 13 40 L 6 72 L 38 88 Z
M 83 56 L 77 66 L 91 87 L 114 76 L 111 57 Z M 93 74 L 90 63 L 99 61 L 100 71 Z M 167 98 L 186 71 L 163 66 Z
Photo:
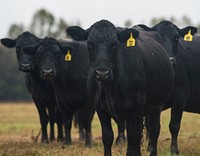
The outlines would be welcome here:
M 183 111 L 200 113 L 200 36 L 194 35 L 195 27 L 180 29 L 170 21 L 162 21 L 152 28 L 141 27 L 162 36 L 164 48 L 175 63 L 174 89 L 165 108 L 171 106 L 171 153 L 178 154 L 177 138 Z

